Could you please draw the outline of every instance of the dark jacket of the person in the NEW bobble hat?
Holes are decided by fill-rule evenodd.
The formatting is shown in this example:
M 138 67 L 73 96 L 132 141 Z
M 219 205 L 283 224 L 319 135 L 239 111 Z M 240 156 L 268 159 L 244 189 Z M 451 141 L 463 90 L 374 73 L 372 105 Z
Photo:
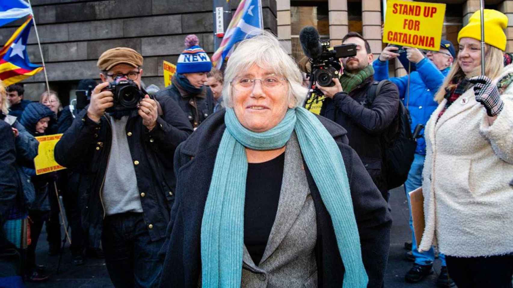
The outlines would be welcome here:
M 203 86 L 200 94 L 192 95 L 173 83 L 169 88 L 159 91 L 157 95 L 169 96 L 178 102 L 193 128 L 198 127 L 214 112 L 214 98 L 208 86 Z

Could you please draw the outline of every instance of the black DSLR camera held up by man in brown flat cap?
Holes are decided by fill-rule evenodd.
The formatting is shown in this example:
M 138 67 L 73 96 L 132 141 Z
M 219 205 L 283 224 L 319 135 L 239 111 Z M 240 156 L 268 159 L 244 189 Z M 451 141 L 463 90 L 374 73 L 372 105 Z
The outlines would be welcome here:
M 143 93 L 137 84 L 126 77 L 117 77 L 102 91 L 110 91 L 114 94 L 114 105 L 105 110 L 105 112 L 116 112 L 133 110 L 137 104 L 144 98 Z

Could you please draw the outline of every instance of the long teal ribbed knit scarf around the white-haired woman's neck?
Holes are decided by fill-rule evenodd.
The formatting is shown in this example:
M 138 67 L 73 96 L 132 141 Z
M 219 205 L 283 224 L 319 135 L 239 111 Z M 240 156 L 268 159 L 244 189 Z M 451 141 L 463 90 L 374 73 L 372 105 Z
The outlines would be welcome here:
M 227 108 L 225 124 L 201 224 L 203 287 L 241 285 L 248 170 L 244 147 L 255 150 L 283 147 L 293 130 L 331 216 L 345 268 L 343 287 L 366 287 L 368 278 L 344 160 L 319 119 L 302 107 L 288 109 L 277 126 L 258 133 L 244 128 L 233 109 Z

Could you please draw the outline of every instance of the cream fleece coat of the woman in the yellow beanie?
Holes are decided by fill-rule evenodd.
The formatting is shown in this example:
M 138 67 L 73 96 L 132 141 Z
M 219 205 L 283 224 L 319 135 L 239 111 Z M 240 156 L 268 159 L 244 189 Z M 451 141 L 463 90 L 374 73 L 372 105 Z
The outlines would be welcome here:
M 507 73 L 513 65 L 494 83 Z M 513 252 L 513 85 L 501 99 L 491 126 L 472 87 L 437 122 L 444 99 L 427 122 L 420 251 L 438 243 L 440 252 L 457 257 Z

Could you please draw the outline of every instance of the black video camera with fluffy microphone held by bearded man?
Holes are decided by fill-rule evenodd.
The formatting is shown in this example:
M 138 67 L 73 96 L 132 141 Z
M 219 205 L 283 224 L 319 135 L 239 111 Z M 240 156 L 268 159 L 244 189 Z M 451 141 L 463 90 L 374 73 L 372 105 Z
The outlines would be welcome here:
M 310 99 L 312 94 L 315 95 L 315 98 L 323 95 L 313 83 L 317 82 L 320 86 L 333 86 L 335 83 L 331 79 L 338 77 L 342 69 L 339 59 L 354 56 L 357 50 L 353 43 L 330 48 L 329 40 L 320 40 L 319 32 L 312 26 L 307 26 L 301 30 L 299 40 L 301 48 L 309 58 L 311 65 L 311 72 L 308 75 L 310 91 L 307 96 L 307 101 L 310 101 L 311 104 L 314 100 Z

